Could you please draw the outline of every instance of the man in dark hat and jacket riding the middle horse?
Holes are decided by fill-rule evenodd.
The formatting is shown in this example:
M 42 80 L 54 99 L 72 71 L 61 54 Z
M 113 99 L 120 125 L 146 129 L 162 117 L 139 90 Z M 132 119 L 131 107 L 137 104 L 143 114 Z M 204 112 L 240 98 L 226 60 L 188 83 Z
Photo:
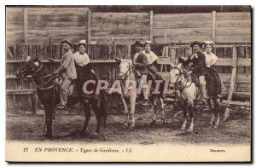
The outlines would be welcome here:
M 131 58 L 133 66 L 136 72 L 136 77 L 139 78 L 140 83 L 143 83 L 143 96 L 144 100 L 148 101 L 147 93 L 147 75 L 148 75 L 148 58 L 147 55 L 143 53 L 143 44 L 140 41 L 136 41 L 134 44 L 136 49 L 136 54 Z

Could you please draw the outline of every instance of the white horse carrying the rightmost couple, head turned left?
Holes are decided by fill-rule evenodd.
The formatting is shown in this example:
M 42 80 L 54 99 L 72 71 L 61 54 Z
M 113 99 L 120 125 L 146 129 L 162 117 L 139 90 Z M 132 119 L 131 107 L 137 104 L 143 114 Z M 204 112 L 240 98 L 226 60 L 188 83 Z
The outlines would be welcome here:
M 189 72 L 187 72 L 182 64 L 178 64 L 177 66 L 172 64 L 172 70 L 170 72 L 171 75 L 171 83 L 175 84 L 175 89 L 178 89 L 180 92 L 180 97 L 185 102 L 185 106 L 183 106 L 183 125 L 181 130 L 185 130 L 187 124 L 187 111 L 189 110 L 190 124 L 189 124 L 189 132 L 192 132 L 194 129 L 194 118 L 193 118 L 193 108 L 194 102 L 196 99 L 196 93 L 198 92 L 198 88 L 195 83 L 192 82 Z M 208 97 L 208 105 L 210 107 L 212 113 L 211 126 L 214 124 L 214 128 L 218 127 L 219 124 L 219 99 L 216 95 L 207 95 Z M 212 102 L 213 101 L 213 105 Z M 216 121 L 215 121 L 215 118 Z

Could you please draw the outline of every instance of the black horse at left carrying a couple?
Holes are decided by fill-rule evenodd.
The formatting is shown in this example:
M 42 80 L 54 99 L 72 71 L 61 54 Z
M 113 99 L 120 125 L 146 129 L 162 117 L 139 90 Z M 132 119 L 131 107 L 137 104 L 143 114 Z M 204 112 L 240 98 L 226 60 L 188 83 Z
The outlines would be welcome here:
M 45 111 L 45 125 L 46 134 L 45 137 L 52 137 L 52 120 L 55 116 L 55 105 L 60 102 L 60 95 L 55 89 L 55 76 L 50 74 L 49 69 L 43 65 L 43 63 L 38 60 L 38 58 L 27 57 L 26 64 L 20 67 L 20 69 L 15 72 L 17 78 L 26 78 L 26 76 L 32 75 L 33 83 L 37 89 L 38 98 L 44 106 Z M 79 96 L 80 101 L 84 106 L 85 121 L 84 126 L 81 131 L 81 135 L 85 135 L 89 120 L 90 120 L 90 107 L 95 112 L 96 115 L 96 133 L 99 135 L 101 131 L 102 118 L 104 120 L 104 125 L 106 126 L 106 102 L 107 95 L 104 91 L 101 91 L 98 97 L 82 97 Z

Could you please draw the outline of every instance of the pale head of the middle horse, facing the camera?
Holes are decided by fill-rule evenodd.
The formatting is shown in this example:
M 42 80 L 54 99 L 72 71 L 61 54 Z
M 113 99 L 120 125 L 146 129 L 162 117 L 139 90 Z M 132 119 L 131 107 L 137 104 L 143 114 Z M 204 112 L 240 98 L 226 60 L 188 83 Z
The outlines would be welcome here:
M 128 59 L 118 59 L 119 62 L 119 79 L 125 79 L 132 72 L 132 61 Z

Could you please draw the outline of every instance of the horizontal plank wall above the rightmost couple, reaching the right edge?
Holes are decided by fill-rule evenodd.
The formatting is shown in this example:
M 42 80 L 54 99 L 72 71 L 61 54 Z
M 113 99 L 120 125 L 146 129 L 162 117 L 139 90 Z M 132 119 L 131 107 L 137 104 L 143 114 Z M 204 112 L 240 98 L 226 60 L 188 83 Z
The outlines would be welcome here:
M 154 14 L 154 43 L 251 43 L 251 14 L 248 12 Z M 213 32 L 212 32 L 213 31 Z

